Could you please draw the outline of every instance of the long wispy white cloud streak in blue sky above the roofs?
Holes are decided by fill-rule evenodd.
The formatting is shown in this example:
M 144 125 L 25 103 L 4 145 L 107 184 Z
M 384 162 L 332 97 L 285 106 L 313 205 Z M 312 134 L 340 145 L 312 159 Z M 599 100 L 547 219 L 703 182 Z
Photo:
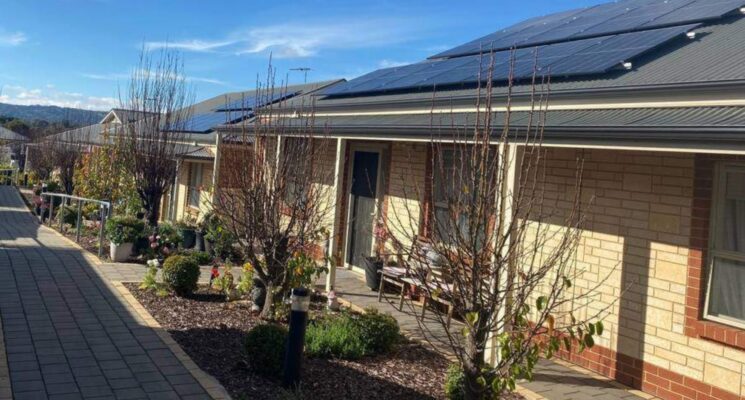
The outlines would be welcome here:
M 191 52 L 265 54 L 278 58 L 305 58 L 323 50 L 387 46 L 417 39 L 426 27 L 402 19 L 365 19 L 343 23 L 328 21 L 267 25 L 238 30 L 224 39 L 189 39 L 148 42 L 146 48 L 173 48 Z

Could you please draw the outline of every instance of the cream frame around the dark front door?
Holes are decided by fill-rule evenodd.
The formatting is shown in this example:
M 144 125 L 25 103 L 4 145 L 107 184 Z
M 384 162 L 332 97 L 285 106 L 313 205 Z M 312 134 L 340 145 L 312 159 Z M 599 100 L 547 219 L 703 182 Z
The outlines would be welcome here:
M 354 174 L 354 153 L 357 151 L 364 151 L 369 153 L 377 153 L 378 154 L 378 171 L 377 171 L 377 179 L 375 183 L 375 215 L 373 215 L 373 222 L 377 221 L 378 219 L 378 211 L 380 210 L 380 205 L 383 202 L 383 195 L 385 193 L 383 189 L 383 172 L 385 171 L 383 169 L 383 162 L 385 161 L 385 151 L 388 148 L 387 144 L 384 143 L 350 143 L 349 145 L 349 166 L 347 167 L 347 176 L 349 177 L 348 182 L 345 185 L 344 193 L 347 197 L 347 210 L 346 210 L 346 227 L 344 227 L 344 253 L 342 254 L 342 260 L 344 263 L 344 267 L 350 270 L 354 270 L 357 272 L 363 272 L 363 270 L 359 267 L 353 266 L 347 262 L 348 255 L 349 255 L 349 245 L 351 244 L 349 242 L 350 233 L 352 230 L 352 176 Z M 374 232 L 375 227 L 373 226 L 373 236 L 375 234 Z M 375 250 L 375 237 L 373 237 L 372 240 L 372 246 L 370 247 L 370 252 L 372 253 Z

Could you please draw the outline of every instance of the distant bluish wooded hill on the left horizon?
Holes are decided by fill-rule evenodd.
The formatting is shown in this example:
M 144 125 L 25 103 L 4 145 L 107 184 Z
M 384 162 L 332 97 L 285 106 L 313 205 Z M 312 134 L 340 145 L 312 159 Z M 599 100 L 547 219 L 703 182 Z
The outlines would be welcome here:
M 71 125 L 91 125 L 100 121 L 105 111 L 81 110 L 57 106 L 20 106 L 0 103 L 0 117 L 12 117 L 27 122 L 67 122 Z

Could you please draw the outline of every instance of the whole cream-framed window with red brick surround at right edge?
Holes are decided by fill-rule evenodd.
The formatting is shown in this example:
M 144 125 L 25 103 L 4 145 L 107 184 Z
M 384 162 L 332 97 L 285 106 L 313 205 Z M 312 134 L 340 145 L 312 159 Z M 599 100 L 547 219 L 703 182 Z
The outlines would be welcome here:
M 705 315 L 745 327 L 745 166 L 721 165 L 717 170 L 711 222 Z

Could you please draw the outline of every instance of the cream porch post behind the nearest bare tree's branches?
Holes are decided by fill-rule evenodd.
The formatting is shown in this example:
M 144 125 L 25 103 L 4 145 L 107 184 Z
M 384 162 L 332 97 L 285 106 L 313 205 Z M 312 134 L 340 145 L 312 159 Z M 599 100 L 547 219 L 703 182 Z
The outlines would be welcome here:
M 506 163 L 506 164 L 505 164 Z M 514 194 L 515 194 L 515 184 L 517 180 L 517 145 L 510 144 L 510 143 L 500 143 L 499 144 L 499 160 L 497 161 L 497 165 L 499 167 L 498 171 L 504 171 L 504 181 L 502 183 L 502 187 L 500 188 L 499 192 L 497 193 L 497 198 L 495 201 L 497 202 L 497 210 L 500 209 L 500 207 L 504 208 L 504 215 L 501 218 L 498 218 L 498 221 L 501 221 L 501 226 L 497 226 L 497 229 L 500 229 L 501 235 L 504 235 L 507 233 L 507 231 L 510 228 L 510 225 L 512 224 L 512 204 L 514 201 Z M 495 236 L 495 240 L 498 236 Z M 504 252 L 507 248 L 509 248 L 509 237 L 507 238 L 505 244 L 500 249 L 501 252 Z M 504 254 L 503 254 L 504 255 Z M 512 266 L 510 266 L 512 268 Z M 497 290 L 504 290 L 508 286 L 508 279 L 512 274 L 507 271 L 507 273 L 503 273 L 501 276 L 501 279 L 499 282 L 492 282 L 493 285 L 496 285 Z M 505 305 L 502 304 L 502 307 L 497 311 L 497 321 L 502 321 L 505 317 L 506 310 Z M 499 361 L 499 348 L 497 344 L 497 336 L 502 334 L 504 332 L 504 325 L 502 325 L 502 328 L 490 332 L 489 334 L 489 340 L 487 342 L 487 348 L 485 351 L 485 357 L 486 361 L 490 364 L 495 364 Z

